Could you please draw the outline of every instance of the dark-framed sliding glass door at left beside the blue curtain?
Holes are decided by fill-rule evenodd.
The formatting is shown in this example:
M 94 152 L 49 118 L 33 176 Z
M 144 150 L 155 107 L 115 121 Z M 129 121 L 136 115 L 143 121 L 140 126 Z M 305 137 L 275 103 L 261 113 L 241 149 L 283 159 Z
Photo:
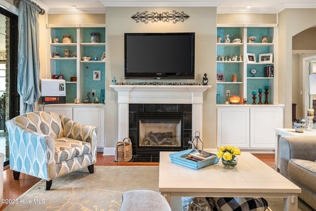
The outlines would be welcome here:
M 20 113 L 17 93 L 18 16 L 0 7 L 0 152 L 9 165 L 8 134 L 5 121 Z

